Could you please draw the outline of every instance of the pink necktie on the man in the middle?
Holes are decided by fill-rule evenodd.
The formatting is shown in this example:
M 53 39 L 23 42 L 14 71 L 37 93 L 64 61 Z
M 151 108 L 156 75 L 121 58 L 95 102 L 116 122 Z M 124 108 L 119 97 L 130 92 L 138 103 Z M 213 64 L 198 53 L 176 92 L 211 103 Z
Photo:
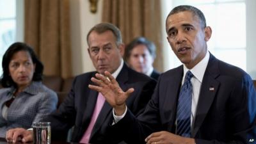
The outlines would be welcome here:
M 79 143 L 89 143 L 93 126 L 94 126 L 94 124 L 95 124 L 95 122 L 96 122 L 96 120 L 99 116 L 100 110 L 102 109 L 102 106 L 103 106 L 104 102 L 105 102 L 105 97 L 101 93 L 99 93 L 98 98 L 97 98 L 97 102 L 96 102 L 96 106 L 95 106 L 94 111 L 93 111 L 91 122 L 90 122 L 88 128 L 86 129 L 86 131 L 84 132 L 84 136 L 80 140 Z

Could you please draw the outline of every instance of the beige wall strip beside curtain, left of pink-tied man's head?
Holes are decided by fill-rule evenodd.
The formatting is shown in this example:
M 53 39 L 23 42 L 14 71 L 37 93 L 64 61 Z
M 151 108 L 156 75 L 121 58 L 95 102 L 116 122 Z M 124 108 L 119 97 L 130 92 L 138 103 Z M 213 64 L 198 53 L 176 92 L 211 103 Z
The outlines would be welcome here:
M 71 47 L 73 75 L 95 70 L 87 52 L 86 35 L 90 28 L 101 22 L 102 0 L 99 0 L 97 13 L 90 12 L 86 0 L 70 0 Z

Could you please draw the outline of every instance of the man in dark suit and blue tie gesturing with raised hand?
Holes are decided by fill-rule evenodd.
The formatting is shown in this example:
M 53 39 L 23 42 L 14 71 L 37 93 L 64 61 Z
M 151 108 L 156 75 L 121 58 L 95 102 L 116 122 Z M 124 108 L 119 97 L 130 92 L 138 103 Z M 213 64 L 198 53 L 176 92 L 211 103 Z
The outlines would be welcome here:
M 92 79 L 97 83 L 89 85 L 93 90 L 106 93 L 108 89 L 104 96 L 113 106 L 115 123 L 109 132 L 118 131 L 116 136 L 127 143 L 255 143 L 252 79 L 207 51 L 212 31 L 204 14 L 193 6 L 177 6 L 166 19 L 166 32 L 184 65 L 159 77 L 152 99 L 138 118 L 125 105 L 132 88 L 117 92 L 118 84 L 108 72 L 111 82 L 102 76 Z M 187 111 L 189 115 L 184 115 Z

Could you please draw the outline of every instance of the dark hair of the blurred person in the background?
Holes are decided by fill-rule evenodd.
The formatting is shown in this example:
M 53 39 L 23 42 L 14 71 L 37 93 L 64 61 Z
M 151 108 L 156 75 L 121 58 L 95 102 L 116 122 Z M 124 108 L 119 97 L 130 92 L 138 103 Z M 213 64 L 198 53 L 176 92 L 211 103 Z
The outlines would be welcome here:
M 152 56 L 152 58 L 156 58 L 156 45 L 147 40 L 147 38 L 145 37 L 138 37 L 138 38 L 134 38 L 134 40 L 132 40 L 132 42 L 130 42 L 126 47 L 125 47 L 125 54 L 124 54 L 124 59 L 125 61 L 128 61 L 130 56 L 131 56 L 131 51 L 134 47 L 136 47 L 137 45 L 145 45 L 150 53 L 150 55 Z

